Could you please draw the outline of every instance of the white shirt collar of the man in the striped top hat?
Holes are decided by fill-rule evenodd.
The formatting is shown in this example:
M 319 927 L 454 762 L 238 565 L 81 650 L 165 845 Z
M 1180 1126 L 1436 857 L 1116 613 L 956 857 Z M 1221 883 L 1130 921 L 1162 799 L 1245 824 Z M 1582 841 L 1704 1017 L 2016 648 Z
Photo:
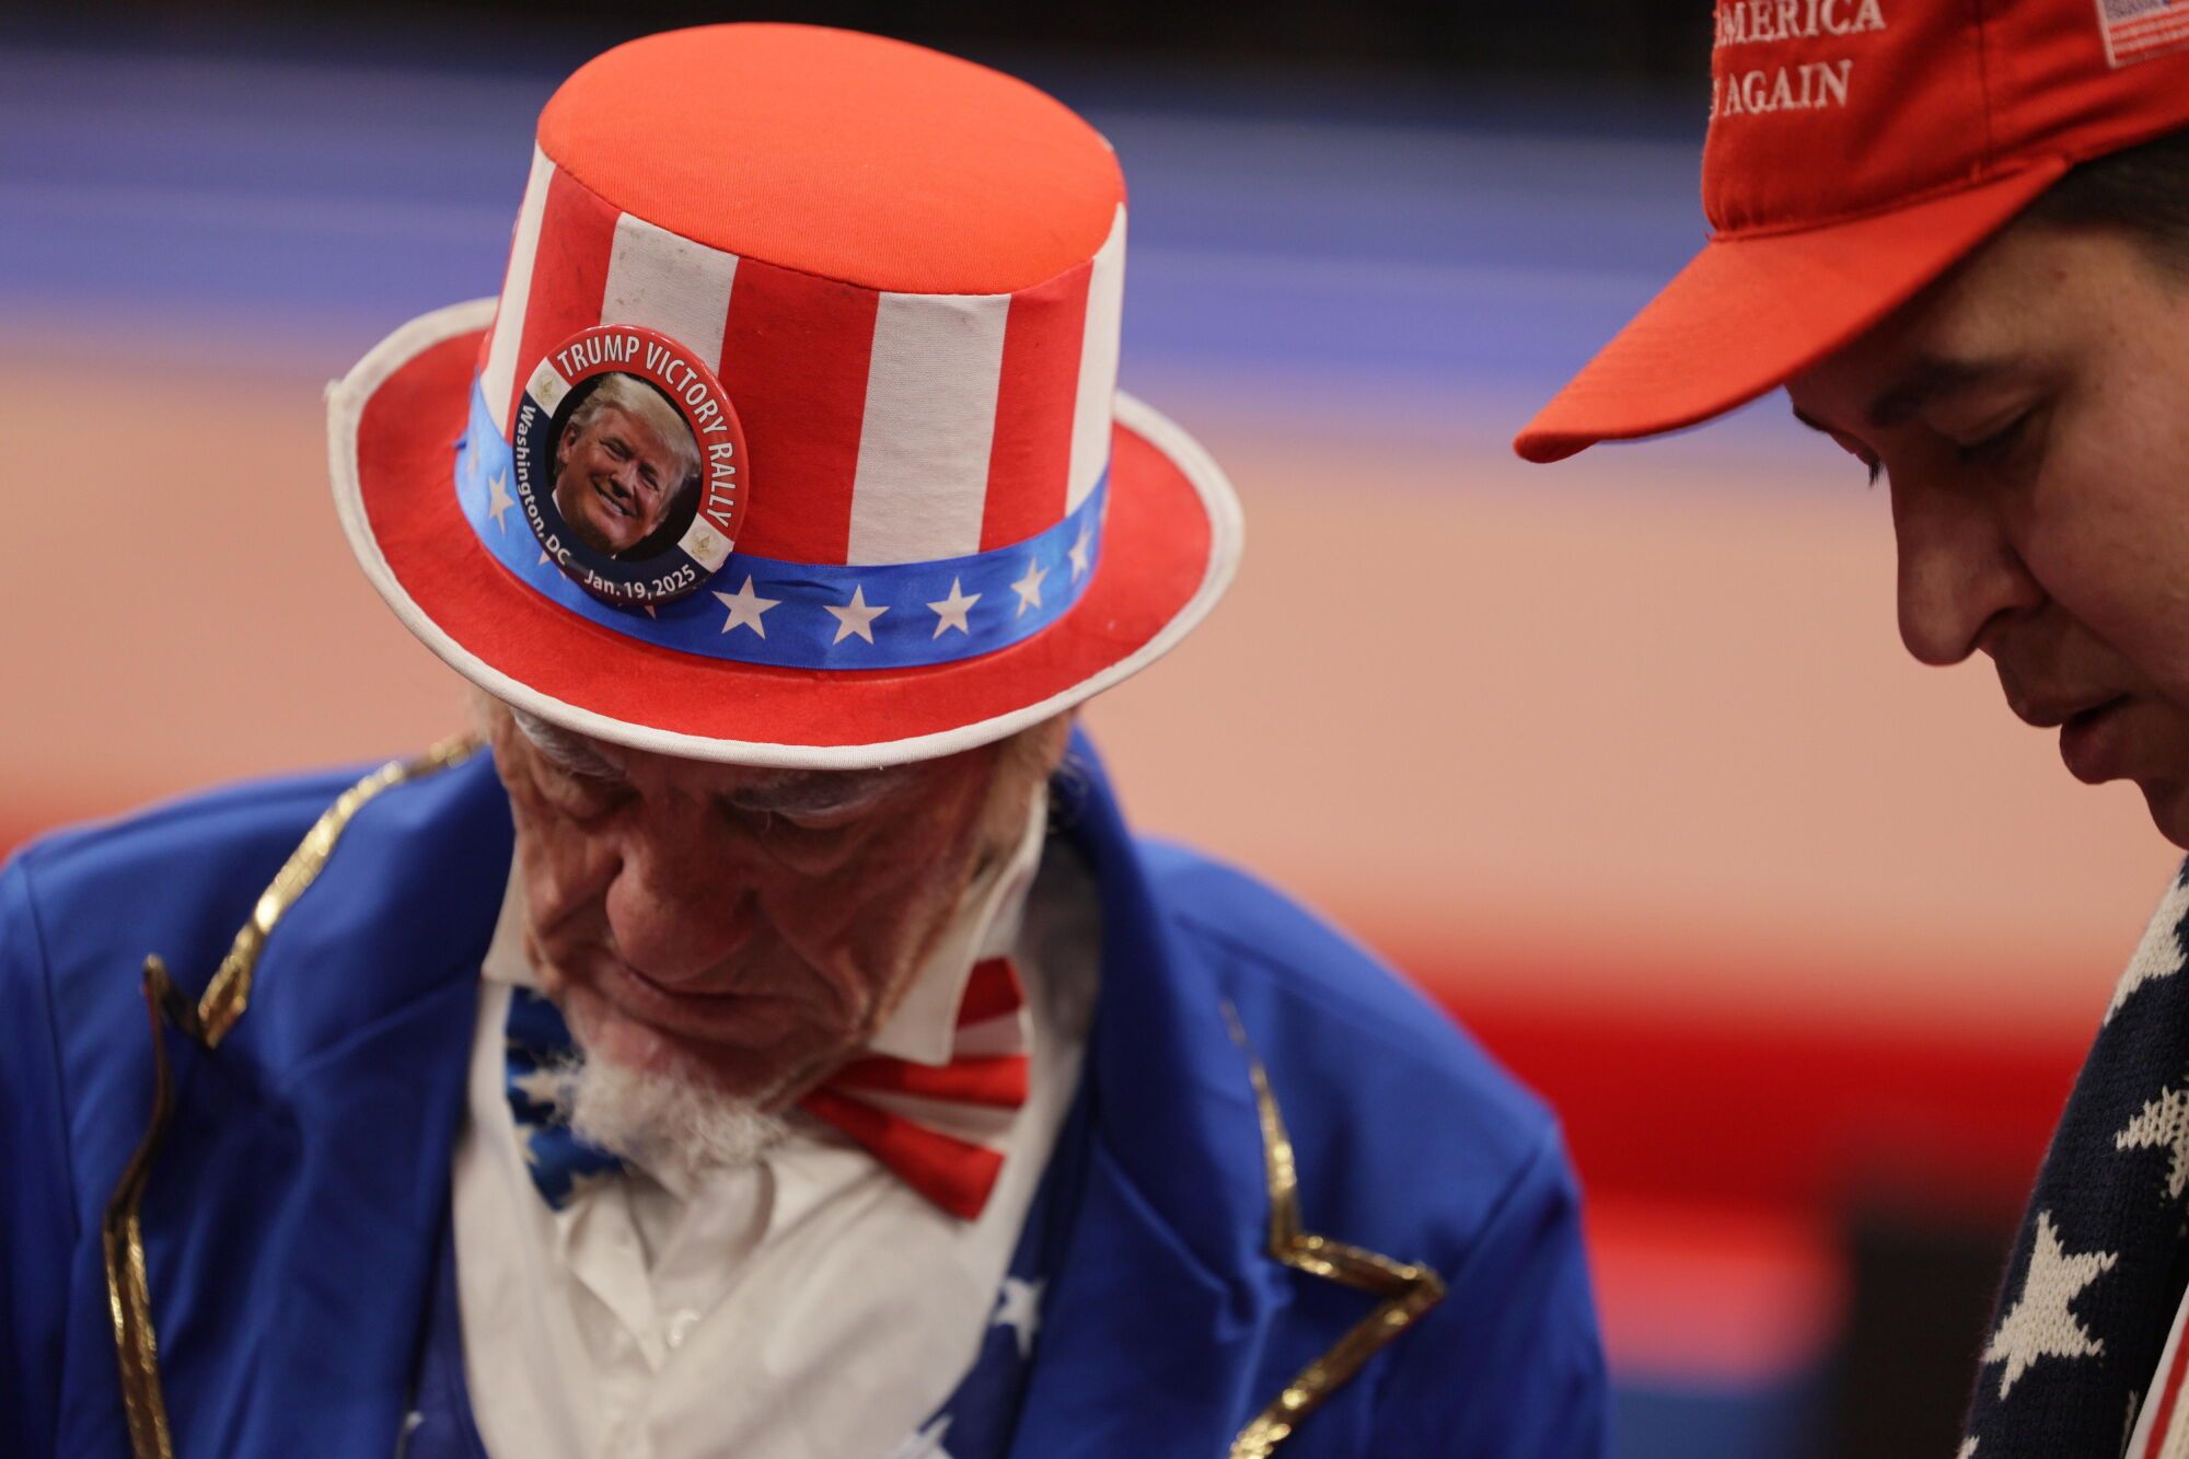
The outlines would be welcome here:
M 948 1065 L 957 1041 L 957 1012 L 965 1001 L 972 968 L 985 957 L 1003 957 L 1018 942 L 1027 892 L 1042 865 L 1049 837 L 1049 786 L 1040 784 L 1027 806 L 1027 826 L 1011 854 L 974 878 L 957 911 L 913 975 L 904 1001 L 867 1043 L 869 1054 L 891 1054 L 915 1065 Z M 538 988 L 538 973 L 525 953 L 525 892 L 510 857 L 510 881 L 501 894 L 501 916 L 486 946 L 479 975 L 490 984 Z

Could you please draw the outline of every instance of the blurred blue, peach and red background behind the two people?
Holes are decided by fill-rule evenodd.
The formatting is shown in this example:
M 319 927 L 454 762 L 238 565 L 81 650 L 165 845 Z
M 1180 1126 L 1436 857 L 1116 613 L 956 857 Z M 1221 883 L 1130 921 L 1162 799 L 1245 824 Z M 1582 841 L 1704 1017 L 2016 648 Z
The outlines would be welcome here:
M 563 72 L 740 15 L 0 28 L 0 846 L 460 725 L 341 543 L 320 390 L 499 287 Z M 1320 905 L 1556 1102 L 1622 1452 L 1950 1452 L 2174 852 L 1988 670 L 1902 655 L 1885 497 L 1782 399 L 1510 456 L 1703 239 L 1707 7 L 764 15 L 992 61 L 1116 142 L 1123 386 L 1228 467 L 1250 552 L 1090 723 L 1143 826 Z

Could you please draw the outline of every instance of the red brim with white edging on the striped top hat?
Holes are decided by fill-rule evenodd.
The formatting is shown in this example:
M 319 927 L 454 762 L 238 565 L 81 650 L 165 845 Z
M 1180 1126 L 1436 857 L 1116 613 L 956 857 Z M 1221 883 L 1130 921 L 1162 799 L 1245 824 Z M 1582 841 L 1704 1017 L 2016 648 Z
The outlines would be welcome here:
M 1197 624 L 1239 565 L 1230 482 L 1178 425 L 1116 399 L 1094 576 L 1070 611 L 996 653 L 906 670 L 799 670 L 617 635 L 510 576 L 455 495 L 455 445 L 493 300 L 412 320 L 328 390 L 344 532 L 372 587 L 433 653 L 549 723 L 661 754 L 854 769 L 998 740 L 1138 673 Z M 753 510 L 766 510 L 755 495 Z

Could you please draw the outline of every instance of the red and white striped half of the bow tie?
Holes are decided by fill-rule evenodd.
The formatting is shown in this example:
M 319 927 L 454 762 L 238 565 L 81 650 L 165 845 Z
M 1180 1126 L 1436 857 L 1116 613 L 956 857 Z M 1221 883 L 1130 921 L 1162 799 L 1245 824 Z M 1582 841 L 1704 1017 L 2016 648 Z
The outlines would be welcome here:
M 1007 957 L 974 964 L 948 1065 L 871 1054 L 799 1102 L 941 1209 L 972 1220 L 1027 1102 L 1027 997 Z

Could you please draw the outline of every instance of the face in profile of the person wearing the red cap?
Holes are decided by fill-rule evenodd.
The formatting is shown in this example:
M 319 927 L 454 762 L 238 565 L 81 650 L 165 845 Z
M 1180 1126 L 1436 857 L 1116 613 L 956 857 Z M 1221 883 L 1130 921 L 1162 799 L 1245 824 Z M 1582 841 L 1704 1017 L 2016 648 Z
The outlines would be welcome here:
M 2189 283 L 2020 223 L 1788 394 L 1891 482 L 1909 653 L 1990 655 L 2077 780 L 2189 846 Z

